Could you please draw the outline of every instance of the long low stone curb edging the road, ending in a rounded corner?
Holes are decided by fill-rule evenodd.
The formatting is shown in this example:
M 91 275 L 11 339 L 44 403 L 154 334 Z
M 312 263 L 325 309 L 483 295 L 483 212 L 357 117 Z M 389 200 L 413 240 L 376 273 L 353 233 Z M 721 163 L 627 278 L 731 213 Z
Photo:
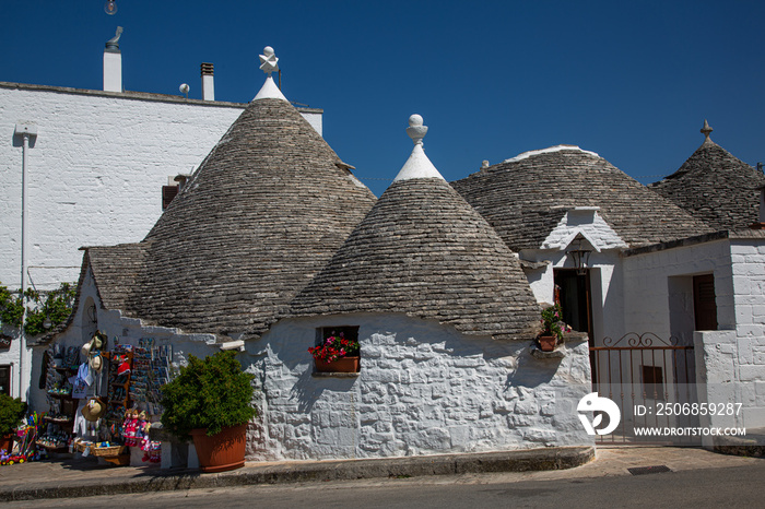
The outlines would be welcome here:
M 122 495 L 175 489 L 201 489 L 256 484 L 281 484 L 313 481 L 343 481 L 375 477 L 414 477 L 482 472 L 530 472 L 572 469 L 595 459 L 595 447 L 564 447 L 528 451 L 481 452 L 374 460 L 317 461 L 258 466 L 245 465 L 231 472 L 201 474 L 142 474 L 129 480 L 97 478 L 97 473 L 83 473 L 83 480 L 66 484 L 49 482 L 35 487 L 0 489 L 0 501 L 40 498 L 75 498 L 98 495 Z

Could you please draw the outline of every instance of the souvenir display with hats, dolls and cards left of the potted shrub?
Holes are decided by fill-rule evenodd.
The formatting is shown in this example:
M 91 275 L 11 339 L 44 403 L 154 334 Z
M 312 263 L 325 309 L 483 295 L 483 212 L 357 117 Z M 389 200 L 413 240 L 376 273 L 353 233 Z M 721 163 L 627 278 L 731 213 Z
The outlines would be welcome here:
M 38 450 L 79 452 L 116 465 L 160 463 L 161 442 L 149 430 L 162 415 L 172 348 L 150 338 L 138 345 L 114 338 L 110 346 L 101 332 L 81 347 L 51 345 L 44 356 L 49 412 L 25 436 L 35 437 Z

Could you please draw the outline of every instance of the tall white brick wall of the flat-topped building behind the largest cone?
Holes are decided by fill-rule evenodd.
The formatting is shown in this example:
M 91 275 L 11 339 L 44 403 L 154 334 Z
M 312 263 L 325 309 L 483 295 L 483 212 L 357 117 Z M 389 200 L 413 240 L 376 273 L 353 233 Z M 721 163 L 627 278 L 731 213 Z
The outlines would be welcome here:
M 21 279 L 21 139 L 27 153 L 31 283 L 75 282 L 81 246 L 141 240 L 162 214 L 162 186 L 190 174 L 246 105 L 0 82 L 0 282 Z M 304 117 L 321 133 L 321 110 Z

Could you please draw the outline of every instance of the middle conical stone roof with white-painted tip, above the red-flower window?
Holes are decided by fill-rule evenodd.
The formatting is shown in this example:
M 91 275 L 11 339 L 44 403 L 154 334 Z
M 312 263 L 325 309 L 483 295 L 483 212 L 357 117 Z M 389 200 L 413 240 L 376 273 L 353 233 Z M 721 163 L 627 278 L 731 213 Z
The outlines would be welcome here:
M 291 311 L 404 313 L 466 334 L 529 339 L 540 308 L 517 257 L 415 145 Z

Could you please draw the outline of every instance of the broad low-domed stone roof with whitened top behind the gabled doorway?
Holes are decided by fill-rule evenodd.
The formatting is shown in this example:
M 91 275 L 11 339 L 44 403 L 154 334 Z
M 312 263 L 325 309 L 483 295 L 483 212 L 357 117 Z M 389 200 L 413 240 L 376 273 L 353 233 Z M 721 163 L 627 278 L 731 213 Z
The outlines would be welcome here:
M 629 247 L 709 232 L 598 154 L 573 145 L 525 153 L 451 185 L 515 251 L 539 249 L 576 206 L 599 206 Z

